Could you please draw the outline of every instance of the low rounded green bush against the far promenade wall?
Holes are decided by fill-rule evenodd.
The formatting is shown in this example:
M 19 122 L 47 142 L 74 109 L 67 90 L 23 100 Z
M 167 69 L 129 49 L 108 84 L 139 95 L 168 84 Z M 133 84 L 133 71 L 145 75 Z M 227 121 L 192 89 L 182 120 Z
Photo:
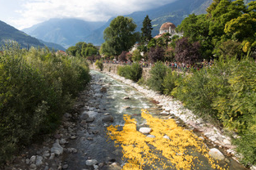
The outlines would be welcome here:
M 118 67 L 117 74 L 124 78 L 131 79 L 134 82 L 138 82 L 142 75 L 142 68 L 140 67 L 139 63 L 136 62 L 132 65 Z

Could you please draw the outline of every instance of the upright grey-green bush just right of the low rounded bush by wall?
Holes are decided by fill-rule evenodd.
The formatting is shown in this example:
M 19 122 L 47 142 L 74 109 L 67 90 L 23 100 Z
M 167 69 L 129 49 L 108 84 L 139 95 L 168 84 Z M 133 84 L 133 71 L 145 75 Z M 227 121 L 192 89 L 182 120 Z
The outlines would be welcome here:
M 157 62 L 155 65 L 150 69 L 150 77 L 148 79 L 148 86 L 157 92 L 163 92 L 163 79 L 167 74 L 167 66 L 164 65 L 162 62 Z

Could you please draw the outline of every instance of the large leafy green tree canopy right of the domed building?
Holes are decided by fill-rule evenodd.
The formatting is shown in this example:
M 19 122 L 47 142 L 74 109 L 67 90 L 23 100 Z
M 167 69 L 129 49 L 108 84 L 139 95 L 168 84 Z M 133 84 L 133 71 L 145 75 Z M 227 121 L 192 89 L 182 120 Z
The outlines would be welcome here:
M 178 26 L 190 42 L 200 43 L 203 59 L 213 58 L 220 44 L 232 40 L 241 43 L 242 50 L 251 55 L 256 51 L 256 2 L 245 4 L 243 0 L 214 0 L 207 15 L 185 18 Z M 233 43 L 233 45 L 235 45 Z M 215 49 L 215 51 L 213 51 Z

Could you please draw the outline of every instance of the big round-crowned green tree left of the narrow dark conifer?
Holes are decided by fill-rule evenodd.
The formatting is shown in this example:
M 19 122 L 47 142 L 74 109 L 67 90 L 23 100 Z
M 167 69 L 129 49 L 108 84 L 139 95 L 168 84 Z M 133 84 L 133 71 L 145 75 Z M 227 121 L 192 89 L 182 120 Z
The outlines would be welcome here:
M 102 51 L 114 56 L 120 55 L 121 51 L 129 51 L 138 39 L 136 26 L 131 18 L 117 16 L 104 30 L 105 45 Z

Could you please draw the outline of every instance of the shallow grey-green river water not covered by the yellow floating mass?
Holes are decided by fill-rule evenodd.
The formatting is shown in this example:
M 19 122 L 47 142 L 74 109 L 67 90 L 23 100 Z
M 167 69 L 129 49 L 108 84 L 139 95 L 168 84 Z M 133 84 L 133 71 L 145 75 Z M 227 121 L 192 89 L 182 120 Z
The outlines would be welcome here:
M 160 118 L 159 113 L 161 108 L 158 107 L 152 100 L 146 98 L 142 93 L 136 91 L 133 87 L 129 87 L 126 84 L 120 83 L 117 80 L 107 76 L 106 74 L 99 73 L 91 70 L 92 90 L 90 91 L 93 100 L 89 100 L 90 105 L 85 106 L 83 114 L 88 114 L 89 117 L 93 117 L 94 121 L 88 123 L 87 129 L 80 129 L 77 134 L 78 137 L 75 141 L 71 141 L 69 147 L 75 147 L 78 149 L 77 154 L 66 154 L 63 160 L 69 165 L 67 169 L 94 169 L 92 166 L 86 166 L 87 159 L 96 159 L 98 165 L 101 163 L 107 164 L 109 162 L 117 162 L 123 166 L 127 159 L 122 159 L 122 148 L 116 147 L 114 141 L 110 140 L 107 136 L 107 127 L 110 125 L 120 125 L 119 131 L 125 125 L 123 114 L 129 114 L 131 119 L 136 120 L 137 129 L 140 127 L 146 127 L 146 120 L 141 118 L 141 110 L 149 110 L 149 113 L 153 117 Z M 101 92 L 101 88 L 106 87 L 106 92 Z M 125 99 L 128 98 L 129 99 Z M 106 115 L 112 115 L 114 121 L 112 123 L 103 123 L 103 117 Z M 170 117 L 170 116 L 169 116 Z M 164 117 L 162 119 L 166 119 Z M 173 117 L 173 119 L 176 119 Z M 179 124 L 180 126 L 185 126 Z M 208 145 L 210 148 L 211 146 Z M 150 146 L 153 148 L 153 146 Z M 188 149 L 188 150 L 192 150 Z M 154 152 L 154 151 L 153 151 Z M 161 161 L 167 161 L 161 152 L 156 152 Z M 194 163 L 194 167 L 191 169 L 214 169 L 208 163 L 203 155 L 194 152 L 200 161 L 200 163 Z M 220 162 L 220 166 L 226 167 L 226 169 L 244 169 L 235 160 L 226 157 L 226 162 Z M 161 162 L 160 161 L 160 162 Z M 168 161 L 167 161 L 168 162 Z M 171 163 L 170 163 L 171 164 Z M 98 169 L 115 169 L 109 168 L 109 166 L 99 167 Z M 118 169 L 118 168 L 116 168 Z M 176 169 L 162 168 L 161 163 L 155 163 L 145 165 L 144 169 Z

